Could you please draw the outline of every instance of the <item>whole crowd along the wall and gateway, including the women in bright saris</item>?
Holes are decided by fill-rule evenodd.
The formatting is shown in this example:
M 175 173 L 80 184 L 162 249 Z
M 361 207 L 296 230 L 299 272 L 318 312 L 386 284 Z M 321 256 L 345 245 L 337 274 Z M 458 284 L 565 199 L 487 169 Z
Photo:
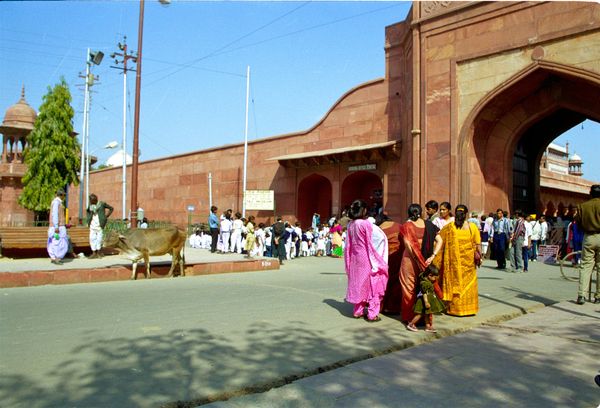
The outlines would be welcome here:
M 594 217 L 600 216 L 600 186 L 597 193 Z M 426 331 L 435 332 L 435 313 L 478 313 L 477 268 L 485 258 L 495 260 L 500 270 L 526 273 L 529 262 L 537 261 L 540 245 L 553 244 L 560 254 L 583 248 L 583 260 L 574 257 L 573 262 L 593 267 L 596 258 L 585 259 L 584 232 L 589 235 L 594 227 L 586 230 L 582 225 L 579 208 L 547 220 L 521 210 L 510 217 L 500 208 L 480 215 L 463 204 L 453 210 L 449 202 L 431 200 L 425 213 L 420 204 L 411 204 L 407 219 L 398 223 L 355 200 L 339 219 L 322 223 L 315 213 L 310 228 L 303 230 L 300 223 L 292 225 L 281 217 L 270 226 L 255 226 L 253 216 L 245 219 L 240 213 L 232 215 L 232 210 L 218 217 L 212 207 L 210 234 L 197 230 L 190 245 L 275 257 L 281 264 L 306 256 L 343 258 L 346 300 L 354 305 L 355 318 L 376 322 L 380 313 L 399 314 L 408 330 L 419 330 L 417 323 L 423 322 Z M 600 219 L 597 226 L 600 231 Z M 583 302 L 582 296 L 577 303 Z M 598 294 L 596 301 L 600 302 Z

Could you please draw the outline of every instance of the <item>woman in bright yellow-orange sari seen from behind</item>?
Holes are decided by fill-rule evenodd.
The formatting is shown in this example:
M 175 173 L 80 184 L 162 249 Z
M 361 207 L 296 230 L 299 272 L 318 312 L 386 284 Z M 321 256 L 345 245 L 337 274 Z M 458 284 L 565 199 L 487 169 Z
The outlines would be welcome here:
M 479 311 L 475 251 L 481 253 L 477 226 L 467 222 L 469 209 L 458 205 L 455 219 L 440 231 L 443 249 L 433 263 L 440 269 L 442 299 L 448 302 L 447 313 L 469 316 Z

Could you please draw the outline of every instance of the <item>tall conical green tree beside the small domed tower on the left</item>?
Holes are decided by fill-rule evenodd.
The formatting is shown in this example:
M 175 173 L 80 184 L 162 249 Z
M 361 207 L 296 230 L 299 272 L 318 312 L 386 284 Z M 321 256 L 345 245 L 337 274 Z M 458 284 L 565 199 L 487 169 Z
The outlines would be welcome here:
M 27 171 L 19 204 L 36 214 L 48 214 L 56 190 L 78 184 L 80 145 L 73 132 L 71 92 L 61 78 L 48 87 L 24 151 Z

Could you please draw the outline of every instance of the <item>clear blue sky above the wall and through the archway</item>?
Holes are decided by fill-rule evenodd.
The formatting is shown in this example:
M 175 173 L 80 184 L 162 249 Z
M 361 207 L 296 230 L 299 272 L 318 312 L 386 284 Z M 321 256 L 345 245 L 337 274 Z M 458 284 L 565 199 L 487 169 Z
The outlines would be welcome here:
M 385 75 L 385 27 L 410 2 L 199 2 L 147 0 L 144 18 L 141 160 L 244 140 L 246 67 L 251 69 L 250 140 L 310 128 L 349 89 Z M 0 1 L 0 111 L 25 85 L 38 109 L 64 76 L 74 125 L 83 123 L 87 48 L 105 53 L 93 73 L 90 150 L 122 139 L 123 78 L 109 57 L 127 36 L 137 50 L 137 1 Z M 128 76 L 128 146 L 135 75 Z M 600 125 L 585 122 L 558 139 L 582 156 L 584 177 L 600 180 Z

